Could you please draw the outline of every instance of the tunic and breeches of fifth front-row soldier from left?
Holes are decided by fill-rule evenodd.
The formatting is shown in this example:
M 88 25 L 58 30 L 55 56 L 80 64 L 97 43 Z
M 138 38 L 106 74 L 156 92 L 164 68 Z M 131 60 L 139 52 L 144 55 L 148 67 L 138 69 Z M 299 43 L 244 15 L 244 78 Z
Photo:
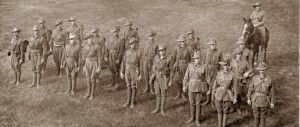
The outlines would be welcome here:
M 130 49 L 125 52 L 121 72 L 125 74 L 125 81 L 128 88 L 137 88 L 137 80 L 140 75 L 140 52 L 136 49 Z

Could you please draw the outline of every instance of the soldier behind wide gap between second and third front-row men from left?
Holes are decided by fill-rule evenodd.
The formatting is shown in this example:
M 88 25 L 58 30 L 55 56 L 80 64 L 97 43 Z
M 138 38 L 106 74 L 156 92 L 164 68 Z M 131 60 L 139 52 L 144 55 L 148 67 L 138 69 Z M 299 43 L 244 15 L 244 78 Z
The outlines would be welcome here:
M 62 20 L 56 20 L 54 26 L 56 27 L 53 30 L 53 34 L 50 40 L 50 51 L 53 54 L 53 59 L 56 64 L 57 73 L 55 76 L 60 77 L 62 75 L 62 70 L 60 65 L 62 64 L 62 54 L 67 42 L 67 33 L 62 29 Z

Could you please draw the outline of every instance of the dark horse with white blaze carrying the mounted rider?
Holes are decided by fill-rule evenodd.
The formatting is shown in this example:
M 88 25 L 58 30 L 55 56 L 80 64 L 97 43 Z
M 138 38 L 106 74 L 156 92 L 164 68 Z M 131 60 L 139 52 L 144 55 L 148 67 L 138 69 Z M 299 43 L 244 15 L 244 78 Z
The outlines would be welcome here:
M 252 56 L 250 56 L 250 63 L 256 65 L 258 62 L 259 49 L 263 52 L 263 62 L 266 62 L 267 47 L 269 42 L 269 30 L 265 27 L 265 39 L 261 37 L 260 29 L 254 27 L 252 20 L 243 18 L 244 28 L 242 37 L 246 40 L 245 47 L 252 51 Z M 251 59 L 252 58 L 252 59 Z

